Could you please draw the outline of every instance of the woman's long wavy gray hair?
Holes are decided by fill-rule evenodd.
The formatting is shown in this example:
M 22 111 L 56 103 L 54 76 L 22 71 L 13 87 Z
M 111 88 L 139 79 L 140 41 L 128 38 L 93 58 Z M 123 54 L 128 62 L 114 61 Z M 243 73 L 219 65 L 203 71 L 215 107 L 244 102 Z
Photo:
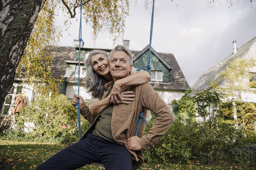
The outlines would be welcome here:
M 85 88 L 87 92 L 92 92 L 92 96 L 101 98 L 103 91 L 105 90 L 105 83 L 107 82 L 101 75 L 97 74 L 92 67 L 91 58 L 95 54 L 102 54 L 108 57 L 108 53 L 103 50 L 93 50 L 85 61 L 86 66 L 86 77 L 85 77 Z

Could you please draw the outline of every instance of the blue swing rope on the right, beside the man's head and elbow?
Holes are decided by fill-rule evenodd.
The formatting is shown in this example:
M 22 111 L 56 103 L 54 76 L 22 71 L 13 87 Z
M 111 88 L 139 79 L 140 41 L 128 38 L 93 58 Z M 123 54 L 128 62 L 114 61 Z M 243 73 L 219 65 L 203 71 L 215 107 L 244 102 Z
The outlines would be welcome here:
M 148 52 L 148 65 L 145 66 L 141 66 L 138 69 L 136 69 L 137 71 L 140 71 L 141 69 L 147 68 L 147 72 L 151 69 L 150 67 L 150 56 L 151 56 L 151 42 L 152 42 L 152 35 L 153 35 L 153 21 L 154 21 L 154 6 L 155 6 L 155 0 L 153 0 L 153 7 L 152 7 L 152 14 L 151 14 L 151 25 L 150 25 L 150 38 L 149 38 L 149 52 Z M 143 111 L 140 113 L 139 118 L 138 118 L 138 123 L 137 123 L 137 128 L 136 128 L 136 133 L 135 136 L 137 136 L 139 129 L 140 129 L 140 123 L 143 120 L 145 120 L 147 126 L 148 126 L 148 122 L 146 120 L 146 118 L 143 116 Z

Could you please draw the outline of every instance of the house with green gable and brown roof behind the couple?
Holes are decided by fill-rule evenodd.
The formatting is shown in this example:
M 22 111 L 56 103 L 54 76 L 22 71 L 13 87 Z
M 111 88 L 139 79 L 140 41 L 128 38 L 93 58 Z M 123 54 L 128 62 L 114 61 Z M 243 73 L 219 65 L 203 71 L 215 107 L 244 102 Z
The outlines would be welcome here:
M 74 40 L 75 43 L 78 41 Z M 129 40 L 125 40 L 124 44 L 129 48 Z M 111 49 L 102 48 L 81 48 L 81 69 L 80 69 L 80 95 L 85 101 L 91 99 L 91 95 L 86 92 L 84 77 L 86 67 L 84 62 L 92 50 L 101 49 L 110 52 Z M 131 50 L 134 62 L 134 67 L 147 65 L 149 46 L 146 46 L 141 51 Z M 78 91 L 78 47 L 63 47 L 57 46 L 50 49 L 50 53 L 54 56 L 52 65 L 52 75 L 54 78 L 62 79 L 63 83 L 60 86 L 59 93 L 64 94 L 67 98 L 73 98 Z M 172 100 L 179 100 L 189 89 L 187 80 L 185 79 L 179 64 L 171 53 L 158 53 L 151 48 L 151 74 L 150 84 L 164 99 L 167 105 L 171 107 Z M 0 118 L 4 117 L 7 112 L 11 112 L 15 98 L 19 93 L 26 97 L 26 104 L 33 100 L 35 94 L 33 93 L 33 86 L 29 84 L 22 84 L 18 80 L 14 80 L 13 88 L 6 97 L 4 107 L 1 109 Z M 10 110 L 9 110 L 10 109 Z

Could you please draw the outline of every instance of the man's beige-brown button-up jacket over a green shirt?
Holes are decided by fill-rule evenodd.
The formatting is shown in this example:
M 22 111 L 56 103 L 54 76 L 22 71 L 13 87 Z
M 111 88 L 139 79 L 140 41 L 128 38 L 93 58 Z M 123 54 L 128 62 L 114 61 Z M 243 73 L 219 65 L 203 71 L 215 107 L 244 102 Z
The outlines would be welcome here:
M 108 91 L 111 90 L 113 81 L 105 84 L 103 98 L 107 97 Z M 142 121 L 138 132 L 140 145 L 143 149 L 153 147 L 164 135 L 170 125 L 174 122 L 174 115 L 164 100 L 157 94 L 149 83 L 139 86 L 126 86 L 123 89 L 133 91 L 135 97 L 131 104 L 115 104 L 113 107 L 111 119 L 111 131 L 115 141 L 119 145 L 127 148 L 127 139 L 135 135 L 137 129 L 138 117 L 141 111 L 148 109 L 155 113 L 156 120 L 150 131 L 143 135 L 145 130 L 145 122 Z M 143 113 L 146 116 L 146 113 Z M 97 122 L 98 115 L 92 115 L 88 107 L 81 108 L 81 114 L 92 123 L 89 130 L 81 138 L 84 139 L 86 134 L 90 132 Z M 128 149 L 128 148 L 127 148 Z M 129 149 L 128 149 L 129 150 Z M 133 169 L 139 168 L 143 164 L 142 151 L 129 150 L 133 156 Z

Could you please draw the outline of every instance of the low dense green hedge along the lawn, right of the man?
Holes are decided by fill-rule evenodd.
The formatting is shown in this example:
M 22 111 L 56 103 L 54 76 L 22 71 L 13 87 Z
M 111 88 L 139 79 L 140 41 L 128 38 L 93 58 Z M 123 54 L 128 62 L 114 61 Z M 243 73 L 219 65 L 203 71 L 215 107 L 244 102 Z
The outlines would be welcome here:
M 175 120 L 163 138 L 153 148 L 144 150 L 143 155 L 147 163 L 228 162 L 253 167 L 255 162 L 252 162 L 250 156 L 255 152 L 244 148 L 255 144 L 254 132 L 244 133 L 225 122 L 217 122 L 209 129 L 204 123 L 183 124 L 180 120 Z

